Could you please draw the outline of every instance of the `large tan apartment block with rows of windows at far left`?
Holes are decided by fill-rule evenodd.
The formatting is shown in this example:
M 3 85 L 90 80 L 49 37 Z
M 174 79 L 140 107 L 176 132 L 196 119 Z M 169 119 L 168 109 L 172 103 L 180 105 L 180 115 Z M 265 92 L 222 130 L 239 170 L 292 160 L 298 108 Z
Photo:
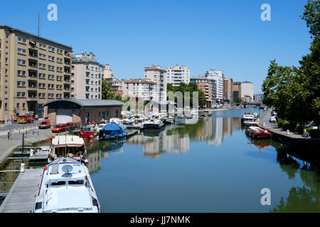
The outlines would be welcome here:
M 42 104 L 70 98 L 72 48 L 9 26 L 0 26 L 0 123 Z

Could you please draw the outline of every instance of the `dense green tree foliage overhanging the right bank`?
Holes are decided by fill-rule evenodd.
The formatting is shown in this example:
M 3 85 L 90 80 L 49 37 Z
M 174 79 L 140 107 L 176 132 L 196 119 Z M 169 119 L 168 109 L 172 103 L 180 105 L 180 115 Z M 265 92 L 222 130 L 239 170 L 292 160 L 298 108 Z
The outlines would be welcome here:
M 302 16 L 310 28 L 310 53 L 302 57 L 299 67 L 280 66 L 270 62 L 267 77 L 262 84 L 265 104 L 275 106 L 279 117 L 297 123 L 320 123 L 320 1 L 309 0 Z

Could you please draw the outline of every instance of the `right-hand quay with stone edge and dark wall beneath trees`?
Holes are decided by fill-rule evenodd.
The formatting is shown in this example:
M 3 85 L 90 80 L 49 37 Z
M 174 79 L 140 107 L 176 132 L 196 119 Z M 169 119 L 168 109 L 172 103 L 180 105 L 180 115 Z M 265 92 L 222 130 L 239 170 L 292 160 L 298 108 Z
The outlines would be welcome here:
M 272 135 L 272 140 L 292 148 L 292 155 L 295 155 L 311 163 L 320 165 L 320 141 L 318 138 L 306 138 L 302 134 L 284 131 L 277 127 L 277 123 L 269 121 L 271 109 L 267 109 L 261 118 L 261 128 L 265 128 Z M 316 162 L 316 163 L 315 163 Z

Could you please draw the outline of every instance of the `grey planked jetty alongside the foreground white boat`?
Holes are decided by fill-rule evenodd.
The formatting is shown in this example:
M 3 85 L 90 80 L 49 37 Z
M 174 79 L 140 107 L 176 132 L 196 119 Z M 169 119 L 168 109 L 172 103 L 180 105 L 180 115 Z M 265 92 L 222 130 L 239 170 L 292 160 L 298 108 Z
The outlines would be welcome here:
M 6 199 L 0 206 L 0 213 L 30 213 L 36 199 L 42 169 L 27 169 L 14 182 Z

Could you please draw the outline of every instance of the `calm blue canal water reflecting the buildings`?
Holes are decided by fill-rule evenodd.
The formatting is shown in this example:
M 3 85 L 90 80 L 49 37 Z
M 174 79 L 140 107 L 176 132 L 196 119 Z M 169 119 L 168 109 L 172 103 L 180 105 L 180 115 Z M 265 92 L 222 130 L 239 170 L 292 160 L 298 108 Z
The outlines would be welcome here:
M 319 212 L 319 167 L 280 143 L 248 138 L 240 121 L 247 111 L 262 114 L 215 111 L 159 133 L 87 142 L 102 212 Z

